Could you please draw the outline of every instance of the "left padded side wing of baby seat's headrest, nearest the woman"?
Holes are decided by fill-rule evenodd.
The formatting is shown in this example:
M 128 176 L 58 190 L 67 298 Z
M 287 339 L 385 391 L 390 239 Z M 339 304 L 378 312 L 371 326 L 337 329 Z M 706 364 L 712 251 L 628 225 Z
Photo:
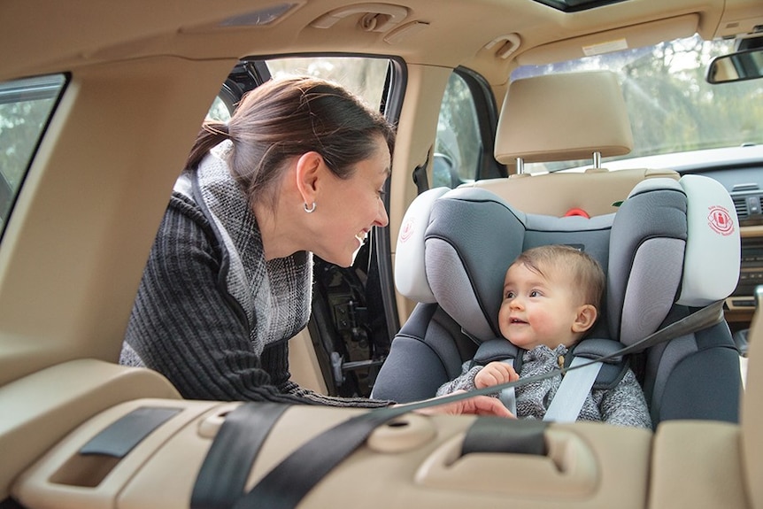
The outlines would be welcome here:
M 522 212 L 484 189 L 421 193 L 398 235 L 397 291 L 439 303 L 470 334 L 496 337 L 491 313 L 500 305 L 503 274 L 522 249 L 523 223 Z

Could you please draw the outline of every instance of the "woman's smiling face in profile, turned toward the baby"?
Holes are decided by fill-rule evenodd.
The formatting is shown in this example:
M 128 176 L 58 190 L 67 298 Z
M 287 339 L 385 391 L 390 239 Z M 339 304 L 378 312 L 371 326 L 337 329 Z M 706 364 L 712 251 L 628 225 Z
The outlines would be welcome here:
M 320 258 L 338 266 L 351 266 L 355 251 L 371 228 L 389 223 L 384 209 L 383 188 L 389 177 L 391 161 L 382 136 L 376 140 L 374 156 L 360 161 L 349 179 L 330 172 L 313 212 L 319 230 L 311 250 Z

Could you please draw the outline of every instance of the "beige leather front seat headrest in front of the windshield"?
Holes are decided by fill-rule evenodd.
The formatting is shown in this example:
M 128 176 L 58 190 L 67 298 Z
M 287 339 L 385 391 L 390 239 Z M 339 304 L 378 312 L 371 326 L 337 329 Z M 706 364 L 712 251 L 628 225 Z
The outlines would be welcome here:
M 628 111 L 614 73 L 557 73 L 512 81 L 498 120 L 495 156 L 510 165 L 627 154 Z

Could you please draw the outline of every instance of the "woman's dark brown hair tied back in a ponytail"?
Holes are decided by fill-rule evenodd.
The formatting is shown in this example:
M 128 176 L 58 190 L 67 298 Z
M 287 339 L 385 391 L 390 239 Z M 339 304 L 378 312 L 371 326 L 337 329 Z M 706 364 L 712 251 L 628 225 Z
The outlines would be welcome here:
M 274 185 L 289 158 L 316 151 L 346 179 L 358 162 L 374 156 L 380 135 L 391 157 L 394 127 L 340 85 L 312 77 L 274 79 L 243 96 L 227 124 L 204 124 L 186 168 L 196 168 L 229 139 L 227 162 L 235 181 L 250 199 L 258 195 L 274 205 Z

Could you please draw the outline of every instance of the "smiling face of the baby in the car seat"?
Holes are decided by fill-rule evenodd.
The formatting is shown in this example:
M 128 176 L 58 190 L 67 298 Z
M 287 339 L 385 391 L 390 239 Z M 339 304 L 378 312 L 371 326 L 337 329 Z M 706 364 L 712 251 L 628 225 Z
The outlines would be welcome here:
M 544 272 L 548 277 L 524 264 L 514 264 L 504 280 L 504 299 L 498 313 L 501 334 L 526 350 L 540 344 L 551 349 L 559 344 L 569 347 L 577 340 L 572 327 L 578 306 L 571 278 Z

